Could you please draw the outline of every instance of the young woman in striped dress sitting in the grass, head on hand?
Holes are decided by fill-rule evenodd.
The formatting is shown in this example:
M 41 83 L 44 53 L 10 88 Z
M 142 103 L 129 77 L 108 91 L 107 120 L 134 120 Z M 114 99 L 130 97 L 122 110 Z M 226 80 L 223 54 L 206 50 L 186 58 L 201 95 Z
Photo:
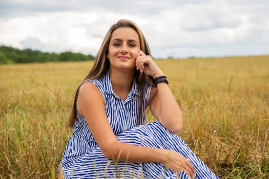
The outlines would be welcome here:
M 149 107 L 157 121 L 145 123 Z M 217 178 L 175 132 L 182 113 L 141 30 L 119 20 L 78 86 L 65 178 Z

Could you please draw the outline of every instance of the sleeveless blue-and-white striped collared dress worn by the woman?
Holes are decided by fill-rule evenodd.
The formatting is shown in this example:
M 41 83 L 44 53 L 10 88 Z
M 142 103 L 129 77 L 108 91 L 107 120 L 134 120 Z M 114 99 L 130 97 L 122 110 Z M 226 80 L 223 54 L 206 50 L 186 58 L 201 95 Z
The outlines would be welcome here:
M 109 73 L 89 82 L 94 83 L 104 96 L 107 118 L 118 141 L 177 151 L 191 160 L 195 168 L 195 178 L 218 178 L 181 138 L 165 129 L 159 121 L 145 125 L 144 110 L 141 125 L 137 126 L 140 94 L 136 82 L 133 82 L 125 101 L 114 93 Z M 143 106 L 147 106 L 149 102 L 151 87 L 152 84 L 148 82 Z M 73 134 L 67 142 L 59 165 L 64 178 L 188 178 L 185 171 L 175 173 L 159 163 L 127 163 L 105 158 L 85 118 L 79 114 L 77 117 L 80 124 L 74 124 Z

